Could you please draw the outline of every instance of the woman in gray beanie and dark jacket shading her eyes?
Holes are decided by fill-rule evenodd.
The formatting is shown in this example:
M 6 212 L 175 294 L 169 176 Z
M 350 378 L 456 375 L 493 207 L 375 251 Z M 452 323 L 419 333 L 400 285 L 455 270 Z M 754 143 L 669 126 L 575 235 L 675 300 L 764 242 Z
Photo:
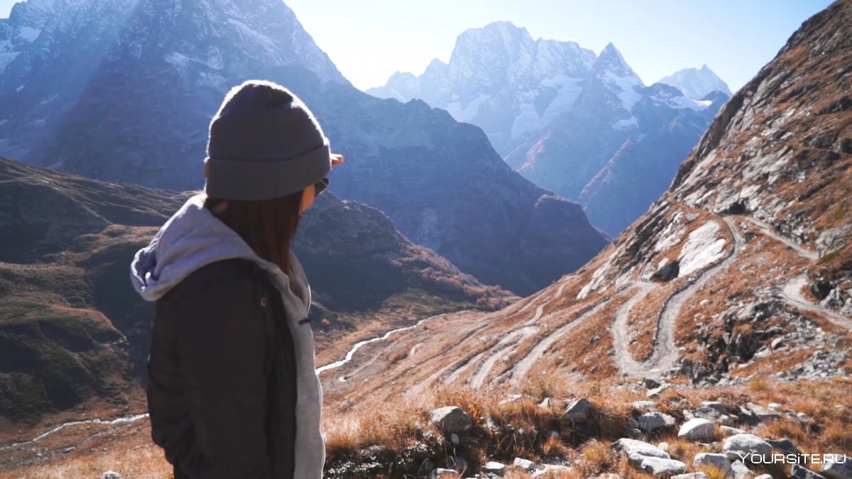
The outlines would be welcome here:
M 210 123 L 204 193 L 136 253 L 156 301 L 148 358 L 154 442 L 175 477 L 322 476 L 322 391 L 310 287 L 290 246 L 343 158 L 287 89 L 232 89 Z

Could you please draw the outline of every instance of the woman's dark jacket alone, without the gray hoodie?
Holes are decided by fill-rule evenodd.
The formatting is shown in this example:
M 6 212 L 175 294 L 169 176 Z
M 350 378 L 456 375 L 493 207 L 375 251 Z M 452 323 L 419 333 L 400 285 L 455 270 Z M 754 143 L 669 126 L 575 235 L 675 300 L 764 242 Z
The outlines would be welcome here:
M 296 360 L 266 274 L 242 259 L 210 263 L 156 311 L 148 408 L 176 478 L 292 477 Z

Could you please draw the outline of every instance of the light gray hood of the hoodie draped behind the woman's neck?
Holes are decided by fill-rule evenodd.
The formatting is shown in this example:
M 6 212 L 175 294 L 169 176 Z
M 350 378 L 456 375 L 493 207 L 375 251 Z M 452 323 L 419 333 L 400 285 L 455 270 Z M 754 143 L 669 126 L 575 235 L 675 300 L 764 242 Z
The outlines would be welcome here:
M 280 285 L 282 293 L 290 290 L 289 283 L 292 283 L 298 300 L 307 310 L 310 305 L 308 280 L 296 255 L 292 251 L 290 255 L 292 277 L 274 275 L 288 283 Z M 250 260 L 270 273 L 280 272 L 278 265 L 258 257 L 239 234 L 204 208 L 204 194 L 199 194 L 187 199 L 154 235 L 151 243 L 136 252 L 130 263 L 130 281 L 143 299 L 157 301 L 193 271 L 234 258 Z

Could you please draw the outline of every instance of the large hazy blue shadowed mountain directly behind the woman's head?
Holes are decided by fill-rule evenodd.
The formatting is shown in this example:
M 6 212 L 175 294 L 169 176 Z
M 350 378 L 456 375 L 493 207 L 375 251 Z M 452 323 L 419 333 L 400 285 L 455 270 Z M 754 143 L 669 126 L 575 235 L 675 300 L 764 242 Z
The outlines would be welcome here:
M 6 28 L 34 28 L 20 19 L 41 4 L 16 6 Z M 278 0 L 53 4 L 66 6 L 42 12 L 49 20 L 26 30 L 34 38 L 15 43 L 0 75 L 0 154 L 107 181 L 200 188 L 223 95 L 267 78 L 300 95 L 346 156 L 335 192 L 384 211 L 487 284 L 527 294 L 607 245 L 579 205 L 508 168 L 481 130 L 351 87 Z

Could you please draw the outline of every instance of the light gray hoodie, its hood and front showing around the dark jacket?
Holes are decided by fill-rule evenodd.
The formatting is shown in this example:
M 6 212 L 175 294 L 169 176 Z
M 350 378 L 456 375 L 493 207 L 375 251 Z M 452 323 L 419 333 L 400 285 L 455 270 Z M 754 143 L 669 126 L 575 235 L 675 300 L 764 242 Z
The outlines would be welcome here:
M 285 316 L 296 348 L 296 470 L 299 479 L 320 479 L 325 463 L 325 444 L 320 435 L 322 389 L 314 368 L 314 333 L 299 320 L 308 315 L 310 286 L 302 265 L 291 252 L 294 270 L 288 277 L 204 208 L 204 195 L 187 200 L 159 229 L 151 244 L 137 251 L 130 263 L 130 280 L 147 301 L 157 301 L 189 274 L 207 264 L 245 258 L 260 266 L 281 293 Z M 290 283 L 298 295 L 291 291 Z

